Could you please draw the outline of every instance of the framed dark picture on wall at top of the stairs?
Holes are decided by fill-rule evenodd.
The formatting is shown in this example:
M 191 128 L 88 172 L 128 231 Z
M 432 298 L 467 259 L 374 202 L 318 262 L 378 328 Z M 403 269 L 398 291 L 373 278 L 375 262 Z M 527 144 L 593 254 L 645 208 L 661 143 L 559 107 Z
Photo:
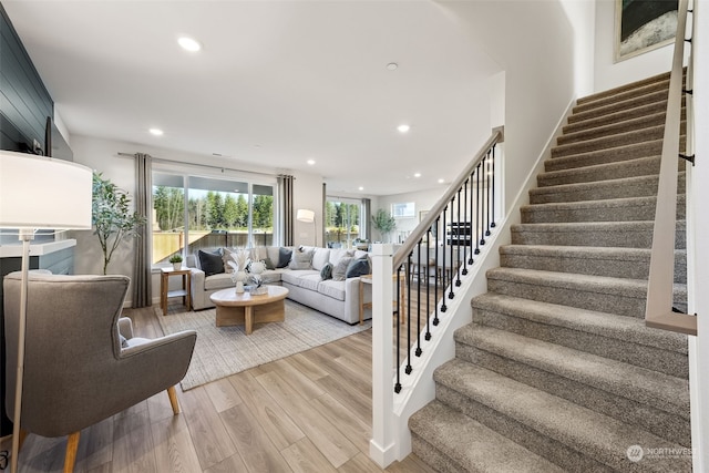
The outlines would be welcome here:
M 678 0 L 616 0 L 615 61 L 672 42 L 677 3 Z

